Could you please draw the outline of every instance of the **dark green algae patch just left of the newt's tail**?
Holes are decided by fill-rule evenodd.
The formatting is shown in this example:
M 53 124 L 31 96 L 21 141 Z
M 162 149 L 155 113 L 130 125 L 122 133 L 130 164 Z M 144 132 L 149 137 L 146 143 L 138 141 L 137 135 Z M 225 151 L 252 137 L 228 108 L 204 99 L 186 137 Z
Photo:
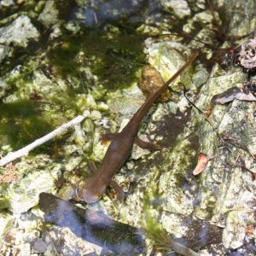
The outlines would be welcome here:
M 102 30 L 84 31 L 80 35 L 65 37 L 62 44 L 49 50 L 48 57 L 63 76 L 69 74 L 84 80 L 85 84 L 90 81 L 86 81 L 82 70 L 90 67 L 99 84 L 115 90 L 130 86 L 137 80 L 137 69 L 145 62 L 143 39 L 126 32 L 109 35 Z M 83 59 L 78 63 L 79 53 L 83 53 Z

